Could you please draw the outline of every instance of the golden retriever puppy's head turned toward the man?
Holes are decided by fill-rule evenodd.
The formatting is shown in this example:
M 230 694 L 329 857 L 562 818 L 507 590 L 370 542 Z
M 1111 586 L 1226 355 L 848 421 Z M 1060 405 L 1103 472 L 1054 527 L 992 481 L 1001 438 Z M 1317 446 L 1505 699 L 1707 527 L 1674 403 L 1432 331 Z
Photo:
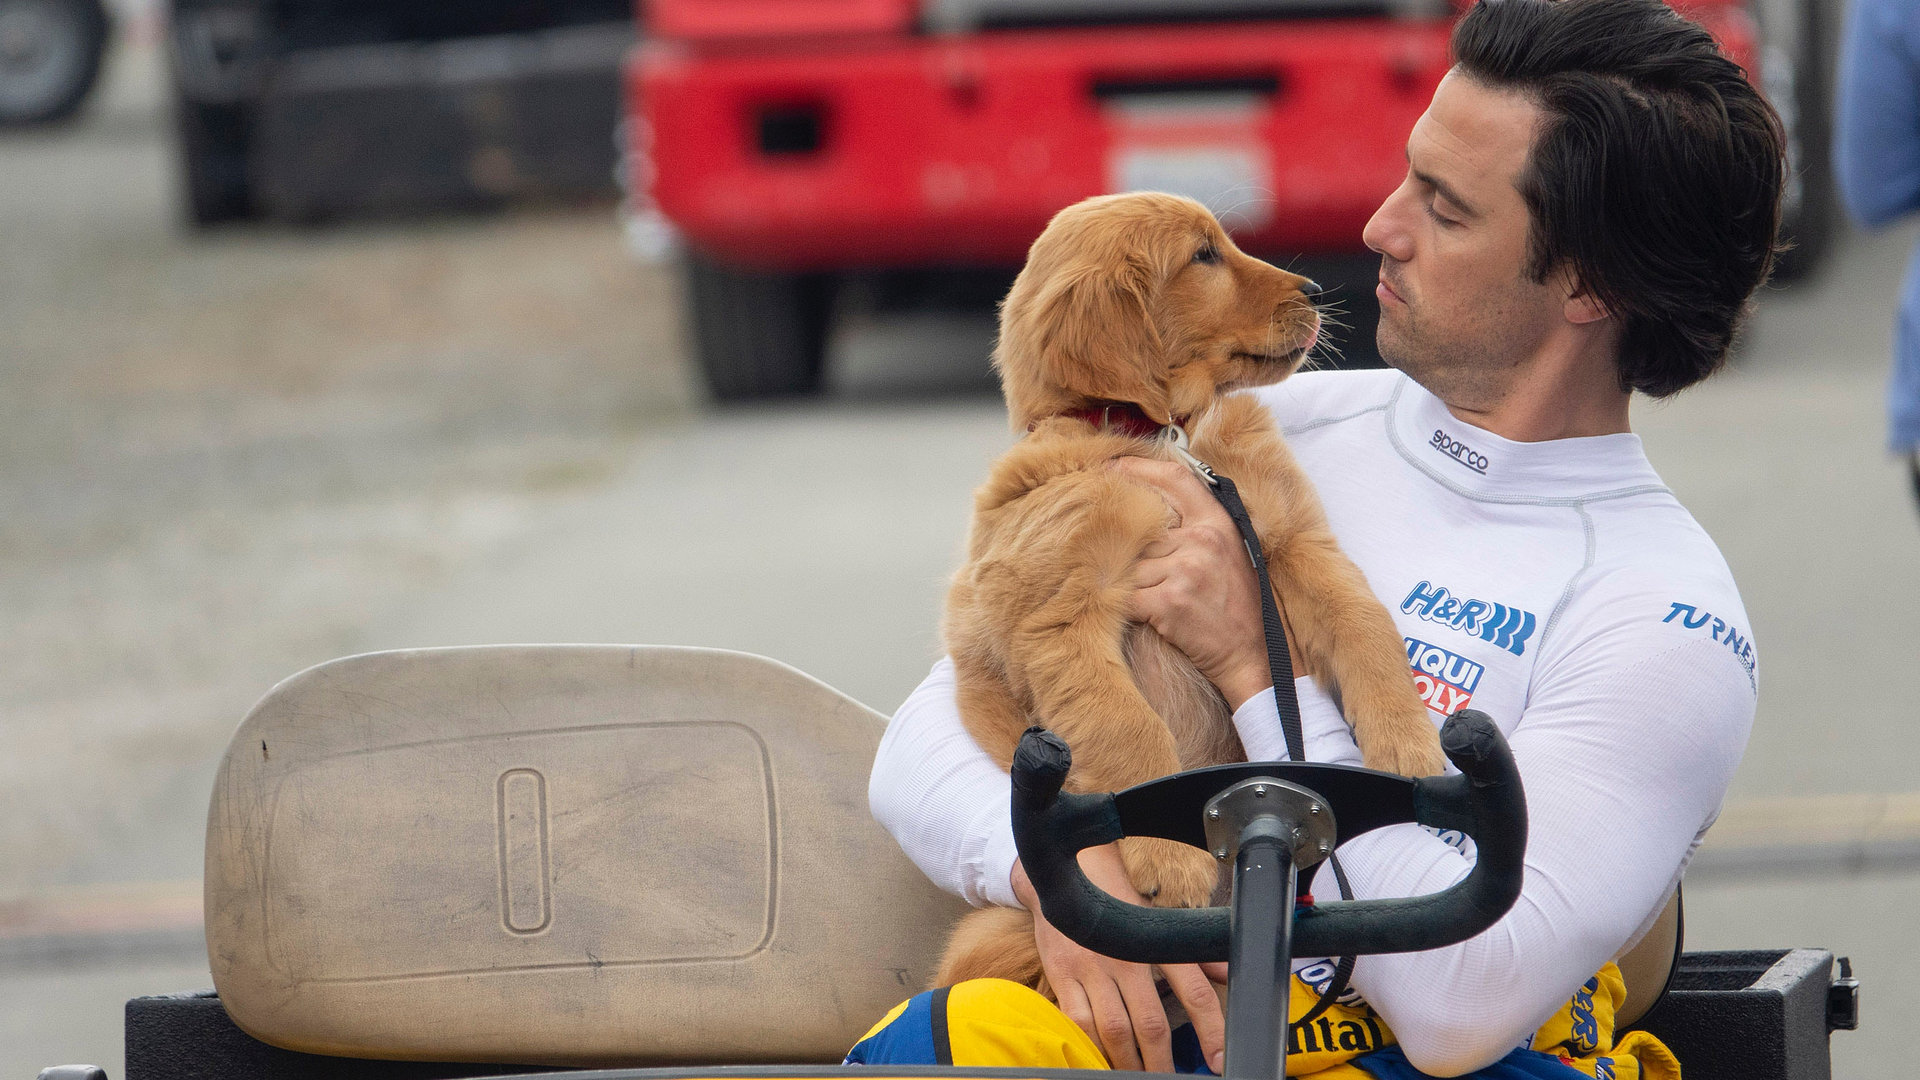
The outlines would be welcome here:
M 1165 425 L 1292 375 L 1319 332 L 1306 281 L 1242 254 L 1190 198 L 1062 209 L 1000 306 L 993 363 L 1014 430 L 1106 402 Z

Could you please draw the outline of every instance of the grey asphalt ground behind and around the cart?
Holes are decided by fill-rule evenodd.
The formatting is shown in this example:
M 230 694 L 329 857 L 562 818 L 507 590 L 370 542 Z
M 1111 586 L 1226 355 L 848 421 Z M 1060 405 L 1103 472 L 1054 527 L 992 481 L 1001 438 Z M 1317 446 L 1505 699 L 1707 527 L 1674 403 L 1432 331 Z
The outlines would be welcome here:
M 205 796 L 276 680 L 705 644 L 887 711 L 1012 438 L 985 317 L 856 319 L 824 400 L 707 407 L 612 208 L 190 234 L 152 50 L 115 60 L 83 123 L 0 136 L 0 1076 L 119 1076 L 121 1001 L 207 982 Z M 1920 515 L 1880 446 L 1912 242 L 1847 233 L 1732 371 L 1634 421 L 1763 650 L 1688 942 L 1849 953 L 1836 1076 L 1905 1076 L 1920 1015 Z

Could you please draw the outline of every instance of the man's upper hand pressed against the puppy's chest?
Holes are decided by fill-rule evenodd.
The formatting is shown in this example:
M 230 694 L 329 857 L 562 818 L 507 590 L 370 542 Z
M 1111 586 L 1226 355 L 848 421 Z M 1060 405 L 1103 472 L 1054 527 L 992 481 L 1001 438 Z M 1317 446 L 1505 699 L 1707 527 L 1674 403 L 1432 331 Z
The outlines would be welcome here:
M 1121 457 L 1110 467 L 1158 490 L 1181 517 L 1135 569 L 1133 617 L 1187 653 L 1238 709 L 1273 684 L 1260 578 L 1240 532 L 1188 467 L 1146 457 Z

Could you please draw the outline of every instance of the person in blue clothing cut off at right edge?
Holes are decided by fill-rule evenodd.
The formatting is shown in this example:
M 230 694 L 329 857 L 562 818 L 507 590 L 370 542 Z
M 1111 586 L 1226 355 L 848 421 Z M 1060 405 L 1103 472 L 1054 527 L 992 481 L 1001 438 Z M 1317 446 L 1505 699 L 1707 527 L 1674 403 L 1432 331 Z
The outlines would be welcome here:
M 1839 58 L 1834 129 L 1839 194 L 1860 225 L 1920 209 L 1920 4 L 1855 0 Z M 1907 459 L 1920 503 L 1920 250 L 1893 321 L 1887 442 Z

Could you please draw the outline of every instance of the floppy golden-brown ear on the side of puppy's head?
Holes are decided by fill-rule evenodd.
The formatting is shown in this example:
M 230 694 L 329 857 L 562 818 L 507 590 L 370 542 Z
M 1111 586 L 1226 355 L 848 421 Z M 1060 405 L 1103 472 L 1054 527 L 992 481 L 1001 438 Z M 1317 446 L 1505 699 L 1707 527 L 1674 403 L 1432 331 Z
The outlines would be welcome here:
M 993 357 L 1014 429 L 1087 400 L 1131 402 L 1171 423 L 1165 348 L 1150 315 L 1154 267 L 1116 254 L 1035 269 L 1029 263 L 1006 296 Z

